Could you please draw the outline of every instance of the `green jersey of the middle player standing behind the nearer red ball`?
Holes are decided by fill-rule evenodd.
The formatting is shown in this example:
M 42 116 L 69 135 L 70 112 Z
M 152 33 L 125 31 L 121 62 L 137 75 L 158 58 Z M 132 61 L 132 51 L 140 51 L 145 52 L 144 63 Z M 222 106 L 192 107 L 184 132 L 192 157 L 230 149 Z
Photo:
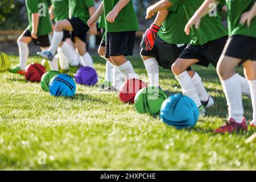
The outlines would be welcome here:
M 105 17 L 113 10 L 119 0 L 103 0 Z M 117 15 L 114 23 L 106 21 L 106 32 L 137 31 L 139 24 L 133 8 L 133 1 L 130 1 Z

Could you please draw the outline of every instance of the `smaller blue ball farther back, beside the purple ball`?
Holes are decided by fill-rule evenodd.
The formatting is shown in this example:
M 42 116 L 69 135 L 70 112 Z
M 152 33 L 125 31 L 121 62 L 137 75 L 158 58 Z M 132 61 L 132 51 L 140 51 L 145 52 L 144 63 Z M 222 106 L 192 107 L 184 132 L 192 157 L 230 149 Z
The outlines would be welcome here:
M 55 97 L 72 97 L 76 93 L 76 83 L 71 76 L 59 74 L 49 82 L 49 92 Z

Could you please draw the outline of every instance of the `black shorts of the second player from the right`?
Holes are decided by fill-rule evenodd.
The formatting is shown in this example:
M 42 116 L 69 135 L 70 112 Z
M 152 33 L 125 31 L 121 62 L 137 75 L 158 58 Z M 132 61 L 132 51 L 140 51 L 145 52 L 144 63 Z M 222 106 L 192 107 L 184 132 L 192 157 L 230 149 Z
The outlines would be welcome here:
M 181 59 L 197 59 L 198 65 L 208 67 L 211 63 L 214 67 L 217 67 L 218 60 L 225 47 L 228 36 L 209 41 L 204 45 L 195 46 L 188 44 L 188 46 L 181 53 L 179 58 Z

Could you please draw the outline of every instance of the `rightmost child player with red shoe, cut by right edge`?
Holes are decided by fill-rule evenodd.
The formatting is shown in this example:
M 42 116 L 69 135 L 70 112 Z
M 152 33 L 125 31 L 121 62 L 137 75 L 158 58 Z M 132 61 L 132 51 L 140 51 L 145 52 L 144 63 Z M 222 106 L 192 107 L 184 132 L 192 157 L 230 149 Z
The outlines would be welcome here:
M 199 27 L 201 17 L 207 14 L 209 3 L 220 1 L 207 0 L 189 20 L 185 31 L 196 24 Z M 245 117 L 243 117 L 242 91 L 238 81 L 235 67 L 243 65 L 245 76 L 251 90 L 253 105 L 253 121 L 256 123 L 256 2 L 247 1 L 221 1 L 228 5 L 229 39 L 218 62 L 217 72 L 224 88 L 228 102 L 229 118 L 226 125 L 214 130 L 216 133 L 232 133 L 238 130 L 247 130 Z

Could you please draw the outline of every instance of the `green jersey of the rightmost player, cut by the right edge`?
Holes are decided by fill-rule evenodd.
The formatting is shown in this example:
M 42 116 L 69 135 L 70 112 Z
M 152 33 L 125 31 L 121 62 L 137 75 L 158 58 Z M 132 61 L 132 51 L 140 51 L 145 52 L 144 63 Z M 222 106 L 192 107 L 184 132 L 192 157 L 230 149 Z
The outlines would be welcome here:
M 256 18 L 251 20 L 250 27 L 240 24 L 241 15 L 253 7 L 255 0 L 218 0 L 228 5 L 229 35 L 245 35 L 256 38 Z

